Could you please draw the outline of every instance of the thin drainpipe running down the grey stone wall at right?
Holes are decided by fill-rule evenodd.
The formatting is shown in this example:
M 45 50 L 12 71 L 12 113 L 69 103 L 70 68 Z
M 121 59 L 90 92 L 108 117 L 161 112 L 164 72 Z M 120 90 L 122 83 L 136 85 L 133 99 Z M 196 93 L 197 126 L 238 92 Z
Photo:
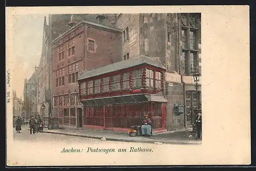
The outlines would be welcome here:
M 187 128 L 187 118 L 186 118 L 186 108 L 185 108 L 185 102 L 186 102 L 186 89 L 185 89 L 185 82 L 183 81 L 183 74 L 181 73 L 180 69 L 180 19 L 179 19 L 179 14 L 177 13 L 176 17 L 176 22 L 177 22 L 177 37 L 178 37 L 178 68 L 179 68 L 179 74 L 181 76 L 181 83 L 183 84 L 183 106 L 184 106 L 184 127 L 185 129 Z

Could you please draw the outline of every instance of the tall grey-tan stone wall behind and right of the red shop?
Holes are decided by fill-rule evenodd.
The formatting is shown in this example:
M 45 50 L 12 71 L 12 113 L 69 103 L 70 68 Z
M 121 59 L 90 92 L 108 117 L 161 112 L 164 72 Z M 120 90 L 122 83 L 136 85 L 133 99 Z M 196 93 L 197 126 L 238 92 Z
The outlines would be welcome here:
M 197 99 L 192 74 L 201 73 L 201 14 L 117 14 L 115 26 L 122 30 L 123 59 L 145 55 L 166 67 L 167 129 L 191 125 Z M 183 114 L 175 114 L 176 103 Z

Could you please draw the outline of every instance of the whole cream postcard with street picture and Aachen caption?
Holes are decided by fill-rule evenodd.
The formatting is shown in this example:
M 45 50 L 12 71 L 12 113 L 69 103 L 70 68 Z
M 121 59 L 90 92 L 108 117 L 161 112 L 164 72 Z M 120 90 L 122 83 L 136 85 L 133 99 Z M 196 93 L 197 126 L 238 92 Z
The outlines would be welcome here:
M 250 164 L 248 6 L 6 11 L 7 166 Z

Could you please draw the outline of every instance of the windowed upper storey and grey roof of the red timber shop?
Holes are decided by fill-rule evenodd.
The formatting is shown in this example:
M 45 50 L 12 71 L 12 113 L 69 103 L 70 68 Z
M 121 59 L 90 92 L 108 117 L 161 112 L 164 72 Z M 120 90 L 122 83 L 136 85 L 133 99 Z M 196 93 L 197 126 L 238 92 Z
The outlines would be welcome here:
M 86 71 L 77 79 L 80 100 L 84 105 L 166 102 L 164 72 L 160 61 L 143 55 Z

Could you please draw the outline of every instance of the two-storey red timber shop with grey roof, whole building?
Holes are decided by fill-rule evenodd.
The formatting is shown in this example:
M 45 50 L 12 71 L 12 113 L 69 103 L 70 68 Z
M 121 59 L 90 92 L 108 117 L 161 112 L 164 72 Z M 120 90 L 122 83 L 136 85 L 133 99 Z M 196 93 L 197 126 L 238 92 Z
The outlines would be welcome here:
M 145 56 L 123 60 L 78 78 L 83 128 L 127 132 L 145 114 L 153 133 L 166 131 L 164 67 Z

